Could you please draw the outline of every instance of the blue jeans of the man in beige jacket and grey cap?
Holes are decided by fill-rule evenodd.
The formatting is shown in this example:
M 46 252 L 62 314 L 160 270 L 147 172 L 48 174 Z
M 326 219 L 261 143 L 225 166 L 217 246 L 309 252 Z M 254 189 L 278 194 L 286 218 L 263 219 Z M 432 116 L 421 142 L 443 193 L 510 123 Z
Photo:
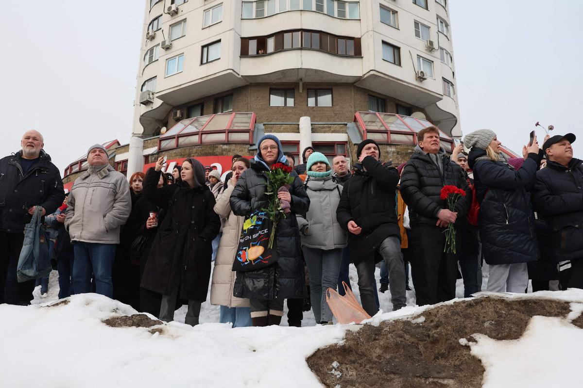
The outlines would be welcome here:
M 111 267 L 117 244 L 83 243 L 75 241 L 75 262 L 73 262 L 73 289 L 75 294 L 91 292 L 91 275 L 95 276 L 95 292 L 113 297 Z

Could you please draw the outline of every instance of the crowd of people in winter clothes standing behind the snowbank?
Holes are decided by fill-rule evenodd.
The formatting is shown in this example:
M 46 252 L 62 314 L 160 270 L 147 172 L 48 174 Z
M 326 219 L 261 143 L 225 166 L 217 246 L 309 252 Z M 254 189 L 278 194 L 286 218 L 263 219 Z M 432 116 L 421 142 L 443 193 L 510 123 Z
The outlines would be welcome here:
M 455 298 L 459 278 L 470 297 L 482 290 L 484 261 L 488 291 L 525 293 L 529 279 L 533 291 L 583 288 L 583 162 L 573 158 L 574 134 L 547 135 L 542 148 L 535 137 L 515 159 L 491 130 L 469 133 L 452 155 L 436 127 L 419 131 L 417 141 L 399 166 L 383 162 L 391 155 L 374 140 L 361 141 L 351 170 L 345 156 L 330 160 L 312 147 L 296 165 L 266 134 L 251 161 L 233 156 L 224 181 L 194 157 L 164 173 L 160 157 L 129 182 L 96 144 L 89 168 L 65 192 L 43 136 L 27 131 L 22 149 L 0 160 L 0 303 L 30 304 L 35 284 L 47 293 L 47 278 L 18 283 L 16 276 L 24 226 L 37 207 L 59 298 L 94 292 L 166 322 L 187 304 L 185 323 L 197 325 L 210 284 L 220 322 L 233 327 L 279 325 L 286 301 L 289 325 L 301 326 L 309 309 L 315 322 L 331 324 L 326 290 L 352 287 L 351 263 L 371 316 L 404 307 L 410 280 L 417 305 Z M 278 261 L 234 271 L 245 216 L 267 207 L 265 172 L 275 163 L 293 168 L 293 181 L 277 193 L 290 205 L 276 229 Z M 442 199 L 444 186 L 465 194 L 454 208 Z M 450 225 L 456 250 L 444 233 Z M 387 290 L 385 307 L 378 291 Z

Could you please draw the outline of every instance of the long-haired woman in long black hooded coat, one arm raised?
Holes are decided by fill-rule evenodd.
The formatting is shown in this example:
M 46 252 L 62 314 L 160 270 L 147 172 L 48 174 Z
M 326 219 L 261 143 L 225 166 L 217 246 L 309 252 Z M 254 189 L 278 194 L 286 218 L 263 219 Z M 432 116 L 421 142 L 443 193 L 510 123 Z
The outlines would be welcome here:
M 166 213 L 154 239 L 142 277 L 142 287 L 162 294 L 162 321 L 174 319 L 176 296 L 188 300 L 185 323 L 198 324 L 210 280 L 211 242 L 220 219 L 213 211 L 215 196 L 205 184 L 205 170 L 194 158 L 182 163 L 182 182 L 157 188 L 163 158 L 148 170 L 144 197 Z

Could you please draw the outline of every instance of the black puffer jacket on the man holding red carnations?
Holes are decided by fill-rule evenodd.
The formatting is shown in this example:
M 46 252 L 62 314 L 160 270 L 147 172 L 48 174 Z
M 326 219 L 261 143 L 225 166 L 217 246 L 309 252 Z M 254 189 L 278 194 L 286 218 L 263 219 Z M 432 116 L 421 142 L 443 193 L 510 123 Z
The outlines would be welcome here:
M 443 172 L 419 145 L 403 168 L 401 195 L 409 207 L 411 227 L 436 225 L 437 214 L 441 209 L 447 209 L 447 203 L 440 197 L 444 186 L 456 186 L 466 192 L 466 196 L 459 198 L 455 204 L 458 213 L 456 226 L 465 219 L 472 203 L 472 190 L 462 168 L 451 161 L 443 149 L 437 156 L 443 163 Z

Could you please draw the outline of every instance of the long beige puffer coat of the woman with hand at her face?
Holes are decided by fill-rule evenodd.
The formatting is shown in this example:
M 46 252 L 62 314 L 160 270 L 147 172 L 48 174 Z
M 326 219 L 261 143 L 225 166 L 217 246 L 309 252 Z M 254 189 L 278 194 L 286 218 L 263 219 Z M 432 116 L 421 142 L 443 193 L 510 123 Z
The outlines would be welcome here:
M 233 284 L 237 272 L 231 270 L 237 253 L 239 236 L 243 229 L 244 216 L 236 216 L 231 212 L 229 198 L 234 186 L 229 182 L 227 190 L 223 191 L 215 205 L 215 212 L 220 218 L 226 218 L 223 227 L 223 237 L 220 239 L 219 250 L 215 259 L 215 269 L 210 285 L 210 304 L 227 307 L 249 307 L 248 299 L 233 296 Z

